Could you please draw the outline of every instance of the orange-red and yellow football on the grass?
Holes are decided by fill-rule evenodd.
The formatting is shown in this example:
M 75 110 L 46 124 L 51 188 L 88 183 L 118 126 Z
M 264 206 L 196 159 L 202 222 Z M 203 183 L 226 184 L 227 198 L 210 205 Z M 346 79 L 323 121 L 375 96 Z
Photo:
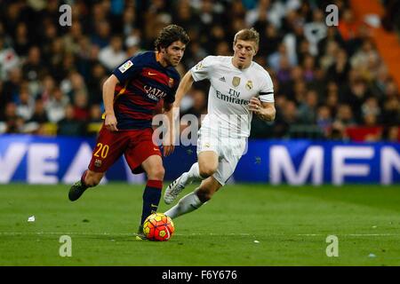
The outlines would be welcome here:
M 143 233 L 149 241 L 168 241 L 175 230 L 172 219 L 164 213 L 153 213 L 143 224 Z

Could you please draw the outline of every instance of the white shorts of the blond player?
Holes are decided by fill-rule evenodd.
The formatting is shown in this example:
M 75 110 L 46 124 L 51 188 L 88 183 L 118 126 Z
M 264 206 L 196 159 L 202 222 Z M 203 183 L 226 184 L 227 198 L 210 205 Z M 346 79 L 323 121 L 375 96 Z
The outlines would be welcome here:
M 215 131 L 201 128 L 198 131 L 197 156 L 201 152 L 218 154 L 218 168 L 212 175 L 220 185 L 225 185 L 236 169 L 237 162 L 244 154 L 247 138 L 220 137 Z

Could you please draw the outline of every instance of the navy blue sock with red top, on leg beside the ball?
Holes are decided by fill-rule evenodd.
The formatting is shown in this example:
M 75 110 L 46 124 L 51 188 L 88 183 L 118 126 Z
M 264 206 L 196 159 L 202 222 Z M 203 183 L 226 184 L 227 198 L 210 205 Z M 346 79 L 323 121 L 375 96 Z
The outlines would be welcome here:
M 141 211 L 140 225 L 143 225 L 150 214 L 156 213 L 162 188 L 163 182 L 161 180 L 148 180 L 148 184 L 143 193 L 143 209 Z

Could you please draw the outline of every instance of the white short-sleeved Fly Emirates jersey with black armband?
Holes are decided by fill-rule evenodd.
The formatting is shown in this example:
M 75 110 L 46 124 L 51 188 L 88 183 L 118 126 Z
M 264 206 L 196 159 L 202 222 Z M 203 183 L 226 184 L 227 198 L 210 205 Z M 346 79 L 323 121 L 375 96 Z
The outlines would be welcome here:
M 211 83 L 202 128 L 217 130 L 222 137 L 249 137 L 252 112 L 248 104 L 252 97 L 274 102 L 271 77 L 256 62 L 239 69 L 231 56 L 207 56 L 190 71 L 196 82 L 208 79 Z

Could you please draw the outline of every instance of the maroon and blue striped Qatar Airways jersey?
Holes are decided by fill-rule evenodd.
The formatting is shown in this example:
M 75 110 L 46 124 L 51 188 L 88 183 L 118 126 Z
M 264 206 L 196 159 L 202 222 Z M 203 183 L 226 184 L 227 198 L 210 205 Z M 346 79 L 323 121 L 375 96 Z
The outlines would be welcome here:
M 118 130 L 151 128 L 161 99 L 173 103 L 180 83 L 174 67 L 163 67 L 156 51 L 146 51 L 124 62 L 113 71 L 118 78 L 114 112 Z

